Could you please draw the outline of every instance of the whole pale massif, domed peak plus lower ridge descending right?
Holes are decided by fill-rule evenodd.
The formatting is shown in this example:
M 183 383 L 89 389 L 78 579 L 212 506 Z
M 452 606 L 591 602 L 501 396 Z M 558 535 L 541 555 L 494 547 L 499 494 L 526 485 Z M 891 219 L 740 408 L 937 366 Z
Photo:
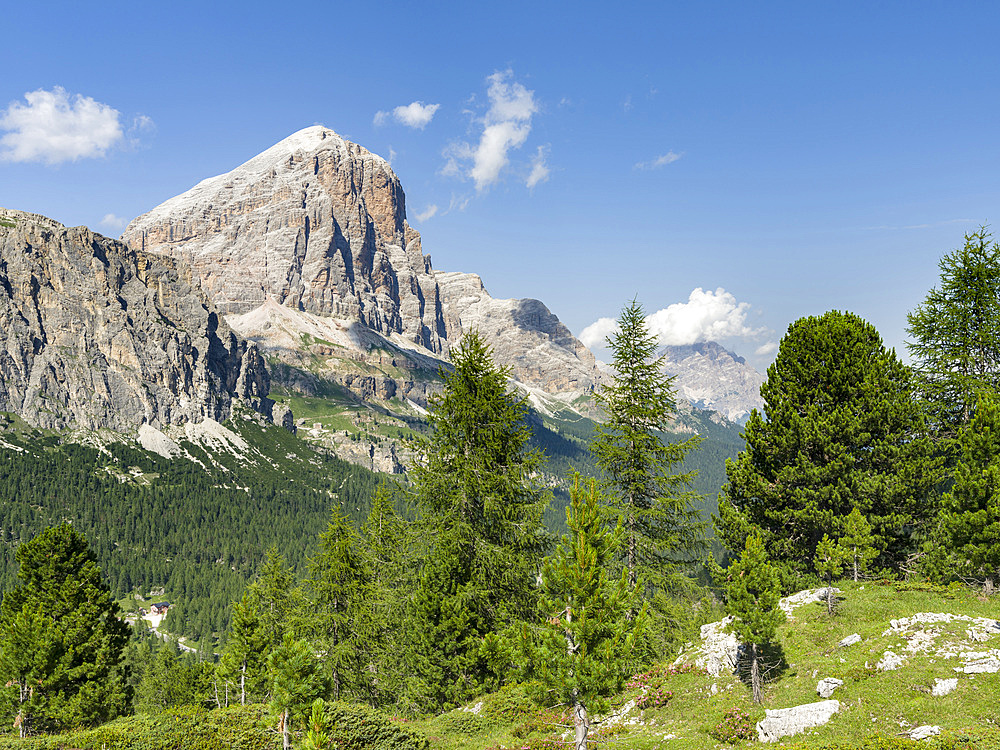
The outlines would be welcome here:
M 597 379 L 590 351 L 541 302 L 494 300 L 478 276 L 435 273 L 389 164 L 321 126 L 171 198 L 122 238 L 189 264 L 230 325 L 295 366 L 334 354 L 319 340 L 357 354 L 340 362 L 381 366 L 367 360 L 388 344 L 345 333 L 360 322 L 389 348 L 438 361 L 478 329 L 515 380 L 549 393 L 586 393 Z M 363 379 L 337 367 L 323 376 L 364 397 Z M 380 387 L 422 400 L 412 378 L 397 380 Z

